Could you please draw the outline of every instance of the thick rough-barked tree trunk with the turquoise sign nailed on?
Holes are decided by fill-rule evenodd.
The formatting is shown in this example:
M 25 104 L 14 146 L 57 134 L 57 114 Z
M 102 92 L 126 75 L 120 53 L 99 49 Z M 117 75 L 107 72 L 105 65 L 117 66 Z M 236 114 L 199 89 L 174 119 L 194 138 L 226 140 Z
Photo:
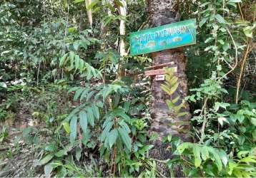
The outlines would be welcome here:
M 167 23 L 174 23 L 179 21 L 179 1 L 177 0 L 149 0 L 148 14 L 151 26 L 161 26 Z M 184 103 L 184 108 L 180 112 L 187 112 L 186 115 L 179 116 L 169 110 L 166 103 L 167 100 L 173 100 L 180 97 L 175 105 L 180 105 L 184 97 L 187 95 L 187 77 L 185 74 L 185 58 L 182 48 L 174 50 L 164 50 L 152 53 L 153 65 L 164 63 L 173 63 L 169 68 L 176 68 L 179 86 L 172 95 L 168 95 L 162 90 L 161 85 L 163 81 L 157 81 L 155 78 L 152 81 L 152 132 L 157 132 L 162 140 L 167 135 L 178 136 L 183 141 L 189 140 L 189 106 Z M 169 153 L 161 149 L 161 142 L 156 142 L 155 149 L 152 150 L 153 157 L 160 157 L 162 159 L 169 158 Z

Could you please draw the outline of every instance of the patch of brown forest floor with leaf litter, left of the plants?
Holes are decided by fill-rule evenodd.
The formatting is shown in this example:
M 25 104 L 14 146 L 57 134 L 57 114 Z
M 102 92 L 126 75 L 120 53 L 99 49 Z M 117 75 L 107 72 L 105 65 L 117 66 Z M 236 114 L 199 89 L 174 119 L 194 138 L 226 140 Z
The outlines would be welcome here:
M 44 130 L 45 122 L 35 119 L 35 112 L 28 103 L 27 100 L 19 102 L 15 116 L 1 122 L 8 129 L 0 145 L 0 177 L 44 177 L 44 169 L 38 166 L 39 147 L 31 145 L 31 142 L 36 141 L 33 139 L 37 139 L 33 134 L 37 133 L 29 131 L 31 128 L 40 132 L 47 130 Z M 0 127 L 1 132 L 4 127 Z M 46 137 L 47 134 L 41 134 L 40 140 L 47 140 Z

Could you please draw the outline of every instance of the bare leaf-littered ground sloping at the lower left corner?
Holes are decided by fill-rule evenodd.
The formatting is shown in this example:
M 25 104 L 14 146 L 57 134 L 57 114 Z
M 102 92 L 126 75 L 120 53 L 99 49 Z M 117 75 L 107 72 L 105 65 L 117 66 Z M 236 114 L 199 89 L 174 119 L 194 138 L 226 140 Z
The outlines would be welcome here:
M 15 120 L 4 122 L 10 129 L 8 137 L 0 146 L 0 177 L 41 177 L 36 173 L 36 147 L 26 144 L 22 138 L 23 130 L 36 125 L 26 108 L 19 108 Z M 40 126 L 37 125 L 40 129 Z

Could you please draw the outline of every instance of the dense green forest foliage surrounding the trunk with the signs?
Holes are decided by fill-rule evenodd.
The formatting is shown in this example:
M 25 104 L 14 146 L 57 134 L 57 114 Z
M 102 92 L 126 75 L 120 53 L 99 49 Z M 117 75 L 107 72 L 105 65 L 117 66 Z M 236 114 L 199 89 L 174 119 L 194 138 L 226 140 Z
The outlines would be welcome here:
M 182 1 L 182 19 L 198 22 L 197 45 L 184 50 L 194 142 L 169 135 L 163 142 L 175 157 L 164 161 L 148 154 L 158 136 L 148 134 L 142 73 L 152 60 L 119 53 L 121 39 L 128 53 L 129 33 L 149 26 L 147 2 L 127 0 L 127 16 L 119 0 L 84 2 L 0 2 L 0 143 L 11 139 L 12 122 L 29 117 L 34 124 L 18 140 L 46 176 L 162 177 L 161 162 L 171 174 L 181 165 L 187 177 L 256 177 L 255 2 Z M 122 19 L 127 36 L 119 35 Z M 177 77 L 167 71 L 162 89 L 172 95 Z M 167 100 L 170 110 L 186 115 L 177 100 Z M 8 145 L 0 161 L 23 147 Z

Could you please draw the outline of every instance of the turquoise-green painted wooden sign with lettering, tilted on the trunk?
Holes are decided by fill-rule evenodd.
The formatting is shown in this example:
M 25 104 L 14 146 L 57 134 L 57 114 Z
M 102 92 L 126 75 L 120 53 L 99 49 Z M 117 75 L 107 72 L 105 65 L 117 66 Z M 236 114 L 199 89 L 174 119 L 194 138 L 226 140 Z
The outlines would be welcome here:
M 170 23 L 130 34 L 132 56 L 188 46 L 195 43 L 195 19 Z

